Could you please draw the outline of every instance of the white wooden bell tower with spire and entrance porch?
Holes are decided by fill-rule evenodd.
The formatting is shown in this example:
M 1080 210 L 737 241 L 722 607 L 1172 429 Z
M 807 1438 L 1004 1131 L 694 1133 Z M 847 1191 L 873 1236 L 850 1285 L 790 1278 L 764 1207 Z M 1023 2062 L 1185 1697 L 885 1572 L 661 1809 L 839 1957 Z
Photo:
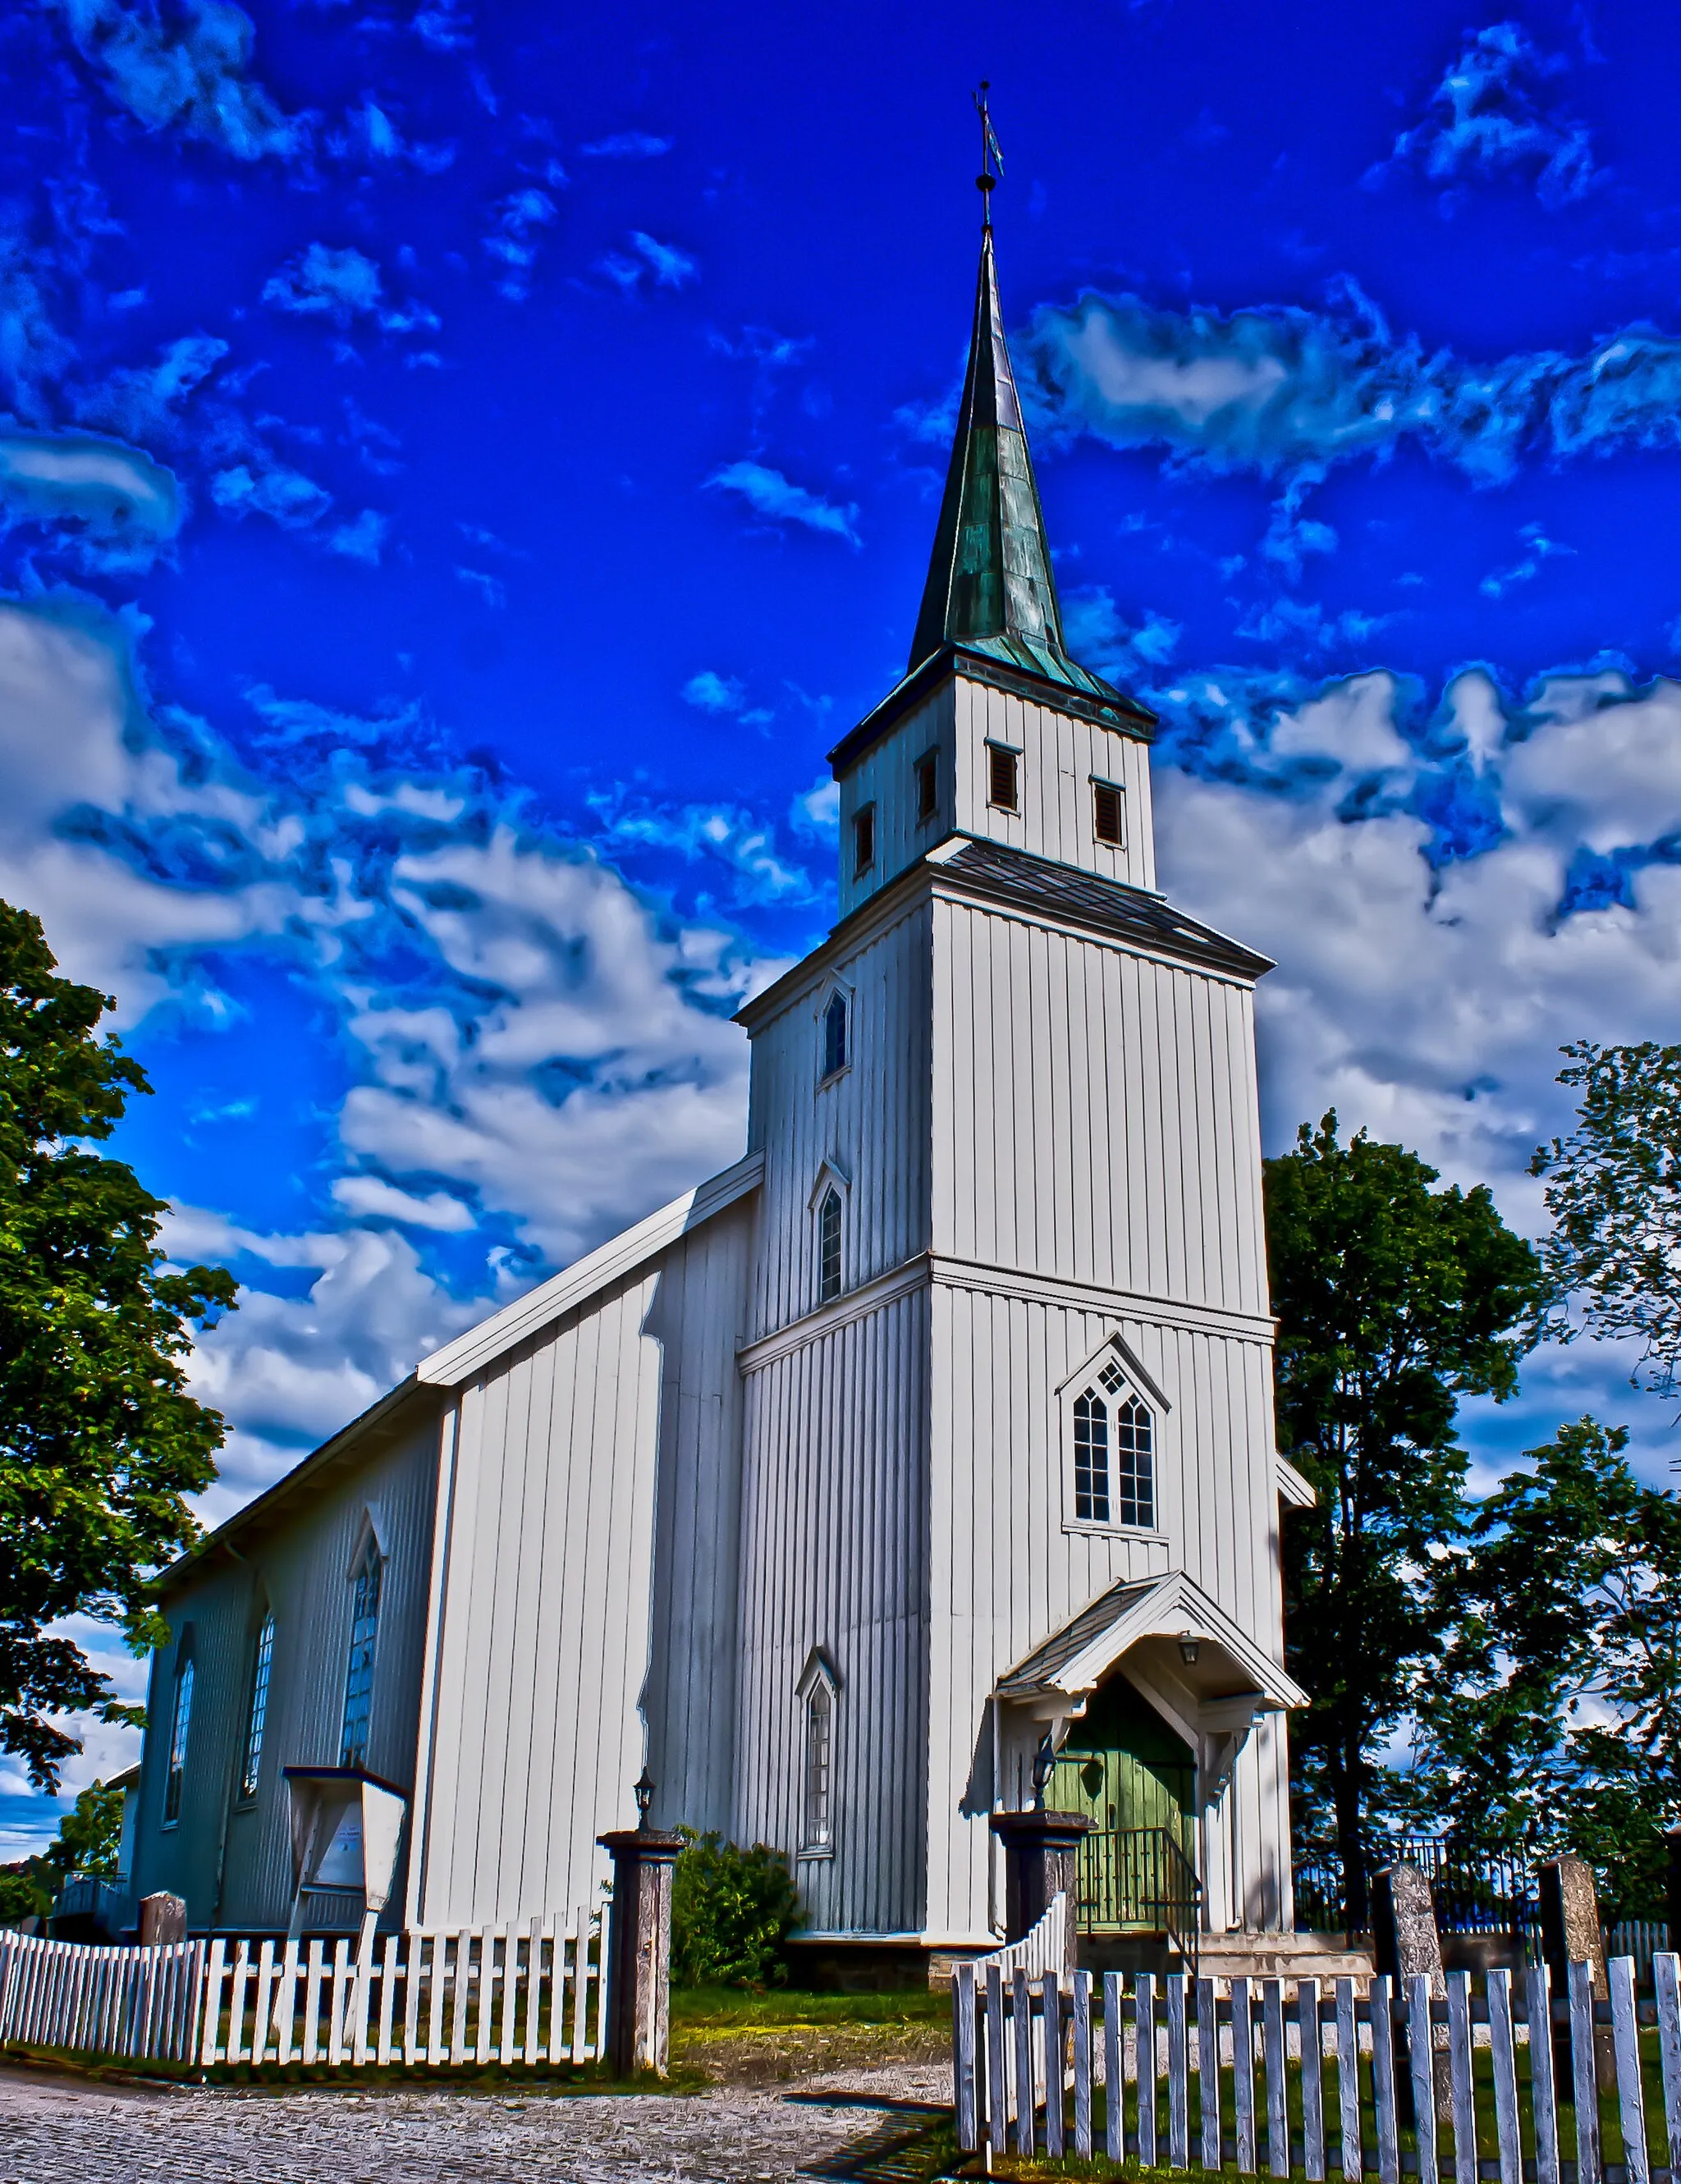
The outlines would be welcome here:
M 910 662 L 830 753 L 840 917 L 740 1013 L 734 1832 L 814 1944 L 985 1944 L 991 1815 L 1081 1719 L 1098 1780 L 1183 1754 L 1199 1918 L 1290 1924 L 1268 965 L 1157 891 L 1153 727 L 1065 644 L 987 225 Z

